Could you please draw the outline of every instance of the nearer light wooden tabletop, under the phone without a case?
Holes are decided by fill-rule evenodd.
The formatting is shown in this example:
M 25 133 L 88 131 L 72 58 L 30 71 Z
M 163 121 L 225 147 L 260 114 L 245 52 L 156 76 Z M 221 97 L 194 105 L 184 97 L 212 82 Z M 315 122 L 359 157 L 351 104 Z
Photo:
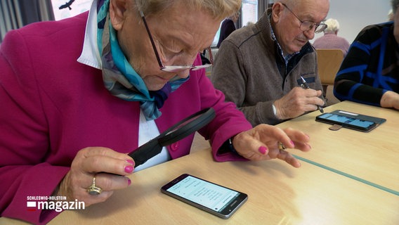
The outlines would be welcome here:
M 67 211 L 51 224 L 399 224 L 399 196 L 302 163 L 213 162 L 209 150 L 131 176 L 107 202 Z M 159 188 L 189 173 L 243 191 L 249 200 L 230 219 L 164 195 Z

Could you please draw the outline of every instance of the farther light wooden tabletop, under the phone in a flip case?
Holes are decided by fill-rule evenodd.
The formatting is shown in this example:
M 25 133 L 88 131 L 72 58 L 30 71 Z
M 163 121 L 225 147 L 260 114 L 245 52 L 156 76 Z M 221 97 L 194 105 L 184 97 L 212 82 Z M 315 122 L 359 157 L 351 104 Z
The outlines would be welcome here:
M 369 133 L 345 128 L 331 131 L 330 124 L 315 122 L 320 115 L 315 111 L 277 126 L 309 134 L 311 152 L 295 155 L 399 193 L 398 110 L 344 101 L 325 108 L 325 113 L 334 110 L 383 117 L 386 122 Z

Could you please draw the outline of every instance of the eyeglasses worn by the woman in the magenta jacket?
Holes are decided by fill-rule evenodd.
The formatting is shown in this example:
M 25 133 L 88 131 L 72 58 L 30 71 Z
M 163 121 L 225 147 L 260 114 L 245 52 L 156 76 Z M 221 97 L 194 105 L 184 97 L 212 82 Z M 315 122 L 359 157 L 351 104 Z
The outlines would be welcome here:
M 157 51 L 157 46 L 155 46 L 154 39 L 152 39 L 152 35 L 150 32 L 150 29 L 148 28 L 147 21 L 145 21 L 144 18 L 144 13 L 143 11 L 140 11 L 141 18 L 143 19 L 143 23 L 145 26 L 145 30 L 147 30 L 148 37 L 150 37 L 152 49 L 154 49 L 155 56 L 157 57 L 157 61 L 159 64 L 159 68 L 161 68 L 162 71 L 164 72 L 179 72 L 183 70 L 199 70 L 202 68 L 209 68 L 211 64 L 205 64 L 205 65 L 164 65 L 161 61 L 161 58 L 159 57 L 159 53 Z M 209 55 L 211 55 L 211 51 L 209 51 Z

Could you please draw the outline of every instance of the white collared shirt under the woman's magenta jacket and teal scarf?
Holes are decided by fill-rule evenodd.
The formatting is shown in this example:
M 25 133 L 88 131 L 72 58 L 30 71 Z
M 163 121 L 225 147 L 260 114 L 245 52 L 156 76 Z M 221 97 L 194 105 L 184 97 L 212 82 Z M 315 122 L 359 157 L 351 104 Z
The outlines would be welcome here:
M 89 18 L 86 23 L 86 32 L 84 34 L 84 44 L 81 55 L 77 59 L 79 63 L 89 65 L 93 68 L 101 70 L 101 56 L 97 46 L 97 0 L 93 0 L 89 11 Z M 138 146 L 142 146 L 151 139 L 159 135 L 157 124 L 154 120 L 147 121 L 140 110 L 140 124 L 138 126 Z M 132 149 L 133 150 L 133 149 Z M 169 161 L 171 159 L 166 147 L 162 148 L 162 152 L 151 158 L 143 165 L 139 165 L 134 169 L 135 172 L 158 165 L 159 163 Z

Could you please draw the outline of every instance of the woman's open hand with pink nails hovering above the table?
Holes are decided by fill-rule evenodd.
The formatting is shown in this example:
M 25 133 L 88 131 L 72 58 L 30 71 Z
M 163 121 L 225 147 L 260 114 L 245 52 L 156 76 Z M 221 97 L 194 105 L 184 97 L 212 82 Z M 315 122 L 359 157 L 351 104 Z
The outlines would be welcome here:
M 293 167 L 301 167 L 299 160 L 286 150 L 280 149 L 278 145 L 281 142 L 286 148 L 308 151 L 311 149 L 308 141 L 309 136 L 302 131 L 291 128 L 280 129 L 268 124 L 259 124 L 254 129 L 237 134 L 233 138 L 233 146 L 237 153 L 249 160 L 278 158 Z

